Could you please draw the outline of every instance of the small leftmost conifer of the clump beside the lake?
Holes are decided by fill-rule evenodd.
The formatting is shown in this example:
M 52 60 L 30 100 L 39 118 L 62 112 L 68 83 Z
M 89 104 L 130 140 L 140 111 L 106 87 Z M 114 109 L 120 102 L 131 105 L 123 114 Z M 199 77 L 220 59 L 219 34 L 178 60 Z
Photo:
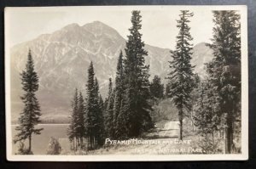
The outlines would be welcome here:
M 72 115 L 70 118 L 70 123 L 67 128 L 67 136 L 69 138 L 70 142 L 73 142 L 73 149 L 77 149 L 78 143 L 77 143 L 77 138 L 78 138 L 78 115 L 79 115 L 79 96 L 78 96 L 78 89 L 75 89 L 75 93 L 73 96 L 73 101 L 72 101 Z

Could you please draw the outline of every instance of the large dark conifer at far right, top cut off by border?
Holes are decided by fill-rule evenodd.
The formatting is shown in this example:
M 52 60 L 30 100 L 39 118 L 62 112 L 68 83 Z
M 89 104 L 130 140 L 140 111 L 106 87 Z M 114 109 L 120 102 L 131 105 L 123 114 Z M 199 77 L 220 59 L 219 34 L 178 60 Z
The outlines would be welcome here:
M 233 128 L 241 101 L 240 15 L 236 11 L 213 11 L 212 62 L 207 65 L 210 81 L 216 87 L 224 116 L 225 153 L 231 153 Z

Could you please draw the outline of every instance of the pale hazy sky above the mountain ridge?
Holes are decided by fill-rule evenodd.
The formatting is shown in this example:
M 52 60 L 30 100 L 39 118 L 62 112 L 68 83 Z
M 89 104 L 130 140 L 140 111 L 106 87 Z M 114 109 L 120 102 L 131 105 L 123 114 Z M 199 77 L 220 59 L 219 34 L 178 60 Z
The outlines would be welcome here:
M 129 34 L 131 10 L 142 14 L 143 41 L 160 48 L 174 48 L 178 14 L 181 9 L 194 12 L 189 25 L 193 43 L 210 42 L 212 37 L 212 8 L 187 6 L 115 6 L 72 8 L 7 8 L 5 29 L 9 45 L 26 42 L 41 34 L 52 33 L 72 23 L 84 25 L 95 20 L 113 27 L 122 37 Z

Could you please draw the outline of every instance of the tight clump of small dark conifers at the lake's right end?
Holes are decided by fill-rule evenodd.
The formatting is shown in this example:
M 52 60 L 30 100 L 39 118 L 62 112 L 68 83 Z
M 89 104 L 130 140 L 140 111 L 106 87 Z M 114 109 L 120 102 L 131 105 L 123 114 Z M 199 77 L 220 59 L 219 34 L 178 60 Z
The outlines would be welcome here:
M 73 143 L 73 149 L 96 149 L 103 145 L 104 103 L 99 93 L 99 85 L 94 73 L 92 62 L 88 69 L 88 81 L 86 84 L 86 98 L 75 90 L 73 97 L 73 114 L 67 129 L 69 140 Z

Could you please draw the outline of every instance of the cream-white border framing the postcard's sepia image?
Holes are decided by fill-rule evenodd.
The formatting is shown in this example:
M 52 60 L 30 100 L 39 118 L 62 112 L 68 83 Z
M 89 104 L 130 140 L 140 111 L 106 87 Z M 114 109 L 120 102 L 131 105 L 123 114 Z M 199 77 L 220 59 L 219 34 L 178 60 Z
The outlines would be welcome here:
M 87 6 L 87 7 L 23 7 L 38 8 L 61 8 L 72 12 L 75 8 L 98 8 L 98 9 L 157 9 L 174 6 Z M 175 6 L 175 8 L 196 10 L 197 8 L 212 8 L 212 10 L 239 10 L 241 11 L 241 154 L 231 155 L 13 155 L 11 134 L 10 112 L 10 54 L 9 54 L 9 13 L 12 9 L 5 8 L 5 112 L 6 112 L 6 149 L 8 161 L 246 161 L 248 160 L 248 62 L 247 62 L 247 6 L 224 5 L 224 6 Z

